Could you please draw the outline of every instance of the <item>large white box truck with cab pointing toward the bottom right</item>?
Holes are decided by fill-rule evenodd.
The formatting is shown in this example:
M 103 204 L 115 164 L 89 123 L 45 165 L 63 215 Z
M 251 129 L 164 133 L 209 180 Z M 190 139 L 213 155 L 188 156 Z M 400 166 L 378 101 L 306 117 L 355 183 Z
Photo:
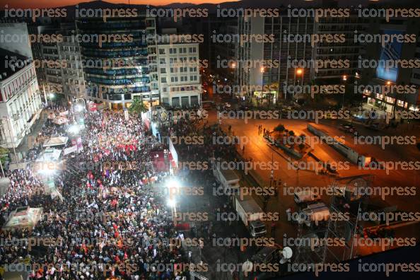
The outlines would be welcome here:
M 236 195 L 234 197 L 236 213 L 248 228 L 250 235 L 252 237 L 265 235 L 267 233 L 267 228 L 265 228 L 264 223 L 261 221 L 264 212 L 257 202 L 250 196 L 244 197 L 244 199 L 240 199 L 240 197 Z

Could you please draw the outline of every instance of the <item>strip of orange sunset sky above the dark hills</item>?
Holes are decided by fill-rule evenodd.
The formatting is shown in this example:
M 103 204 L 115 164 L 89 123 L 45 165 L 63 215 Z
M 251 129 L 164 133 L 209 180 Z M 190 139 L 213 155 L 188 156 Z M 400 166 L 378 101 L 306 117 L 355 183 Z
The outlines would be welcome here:
M 222 2 L 230 2 L 236 0 L 107 0 L 106 2 L 115 3 L 115 4 L 144 4 L 144 5 L 153 5 L 161 6 L 171 3 L 192 3 L 192 4 L 202 4 L 202 3 L 212 3 L 218 4 Z M 3 3 L 0 6 L 0 10 L 4 9 L 5 5 L 8 5 L 8 8 L 47 8 L 47 7 L 60 7 L 60 6 L 69 6 L 76 5 L 83 2 L 91 2 L 88 0 L 6 0 L 2 1 Z

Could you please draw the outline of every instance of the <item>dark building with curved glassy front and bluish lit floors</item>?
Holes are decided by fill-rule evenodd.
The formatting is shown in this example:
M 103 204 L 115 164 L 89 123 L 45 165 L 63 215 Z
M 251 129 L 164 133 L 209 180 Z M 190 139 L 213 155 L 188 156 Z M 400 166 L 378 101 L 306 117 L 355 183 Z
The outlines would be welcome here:
M 148 69 L 147 38 L 156 34 L 154 18 L 108 18 L 106 22 L 86 18 L 76 25 L 88 100 L 115 109 L 129 107 L 134 98 L 158 104 L 159 93 L 151 90 Z M 107 39 L 101 42 L 100 36 Z

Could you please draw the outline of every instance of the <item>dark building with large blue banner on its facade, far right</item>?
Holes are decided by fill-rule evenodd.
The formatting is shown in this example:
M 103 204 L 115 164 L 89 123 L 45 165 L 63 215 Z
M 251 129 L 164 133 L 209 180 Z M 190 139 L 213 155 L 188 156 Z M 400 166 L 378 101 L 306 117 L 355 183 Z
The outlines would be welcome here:
M 396 110 L 420 110 L 420 70 L 407 64 L 396 64 L 386 67 L 384 62 L 409 62 L 420 59 L 420 21 L 417 18 L 394 18 L 385 21 L 378 18 L 371 21 L 368 28 L 370 34 L 387 35 L 415 35 L 416 42 L 387 42 L 384 46 L 380 42 L 366 44 L 366 55 L 362 60 L 371 59 L 378 62 L 378 66 L 367 66 L 362 69 L 361 81 L 358 82 L 366 105 L 378 113 L 392 113 Z M 394 86 L 390 92 L 382 91 L 381 86 Z M 397 91 L 396 86 L 407 88 L 403 92 Z M 398 117 L 398 116 L 397 116 Z

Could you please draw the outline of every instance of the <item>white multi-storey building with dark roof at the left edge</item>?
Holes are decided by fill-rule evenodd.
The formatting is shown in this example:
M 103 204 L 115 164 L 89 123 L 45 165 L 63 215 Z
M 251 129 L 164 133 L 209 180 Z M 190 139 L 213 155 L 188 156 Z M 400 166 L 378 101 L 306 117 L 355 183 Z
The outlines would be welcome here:
M 0 48 L 0 146 L 16 148 L 40 116 L 33 60 Z

